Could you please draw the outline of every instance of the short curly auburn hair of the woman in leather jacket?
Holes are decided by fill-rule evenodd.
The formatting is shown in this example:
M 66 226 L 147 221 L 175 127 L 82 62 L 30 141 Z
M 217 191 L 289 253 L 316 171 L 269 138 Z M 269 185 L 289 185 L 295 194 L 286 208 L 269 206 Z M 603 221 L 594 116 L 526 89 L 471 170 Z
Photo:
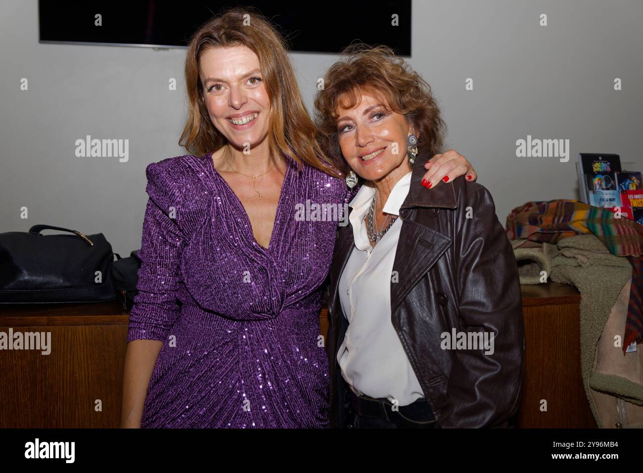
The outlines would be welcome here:
M 343 173 L 350 168 L 341 154 L 336 108 L 354 107 L 362 93 L 372 93 L 383 104 L 406 117 L 418 132 L 417 147 L 429 156 L 441 153 L 446 123 L 431 93 L 431 86 L 387 46 L 357 43 L 343 49 L 342 57 L 324 76 L 315 96 L 315 123 L 321 150 Z M 341 102 L 340 102 L 341 101 Z

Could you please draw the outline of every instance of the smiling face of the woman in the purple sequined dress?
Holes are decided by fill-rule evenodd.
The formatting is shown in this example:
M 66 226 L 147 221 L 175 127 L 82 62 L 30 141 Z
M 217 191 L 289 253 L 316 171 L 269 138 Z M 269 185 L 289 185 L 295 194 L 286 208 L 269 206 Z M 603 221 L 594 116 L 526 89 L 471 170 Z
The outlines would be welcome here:
M 217 130 L 236 148 L 266 143 L 270 99 L 257 55 L 247 46 L 208 48 L 200 62 L 203 96 Z

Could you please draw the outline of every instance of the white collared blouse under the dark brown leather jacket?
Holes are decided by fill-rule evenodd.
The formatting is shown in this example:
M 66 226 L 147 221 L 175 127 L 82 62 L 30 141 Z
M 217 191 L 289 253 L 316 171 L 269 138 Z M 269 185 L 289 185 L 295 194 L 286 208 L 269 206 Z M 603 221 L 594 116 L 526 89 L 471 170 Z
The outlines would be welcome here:
M 391 190 L 383 211 L 399 215 L 410 183 L 408 173 Z M 402 219 L 371 247 L 365 217 L 374 195 L 375 188 L 364 184 L 349 204 L 355 247 L 339 283 L 349 328 L 337 359 L 353 391 L 407 406 L 424 393 L 391 322 L 391 279 Z

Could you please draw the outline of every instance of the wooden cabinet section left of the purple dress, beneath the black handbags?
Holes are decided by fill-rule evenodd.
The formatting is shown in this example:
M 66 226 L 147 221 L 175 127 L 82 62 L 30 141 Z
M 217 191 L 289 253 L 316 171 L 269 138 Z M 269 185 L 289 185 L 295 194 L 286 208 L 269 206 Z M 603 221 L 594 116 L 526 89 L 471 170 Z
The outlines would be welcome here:
M 51 332 L 48 355 L 0 351 L 0 427 L 118 427 L 128 321 L 116 301 L 0 306 L 0 332 Z

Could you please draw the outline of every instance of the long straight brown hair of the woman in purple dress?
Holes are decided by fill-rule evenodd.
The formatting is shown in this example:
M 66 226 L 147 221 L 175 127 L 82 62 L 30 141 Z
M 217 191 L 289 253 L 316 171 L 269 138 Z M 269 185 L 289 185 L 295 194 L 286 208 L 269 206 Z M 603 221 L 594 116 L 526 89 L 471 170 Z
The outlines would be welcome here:
M 249 15 L 244 18 L 244 15 Z M 249 20 L 249 24 L 248 24 Z M 244 22 L 246 24 L 244 24 Z M 227 143 L 208 115 L 199 80 L 201 55 L 208 48 L 247 46 L 258 57 L 270 99 L 269 148 L 278 156 L 338 175 L 316 141 L 316 128 L 299 93 L 284 37 L 253 8 L 230 8 L 206 22 L 190 38 L 185 58 L 188 118 L 179 145 L 202 156 Z

